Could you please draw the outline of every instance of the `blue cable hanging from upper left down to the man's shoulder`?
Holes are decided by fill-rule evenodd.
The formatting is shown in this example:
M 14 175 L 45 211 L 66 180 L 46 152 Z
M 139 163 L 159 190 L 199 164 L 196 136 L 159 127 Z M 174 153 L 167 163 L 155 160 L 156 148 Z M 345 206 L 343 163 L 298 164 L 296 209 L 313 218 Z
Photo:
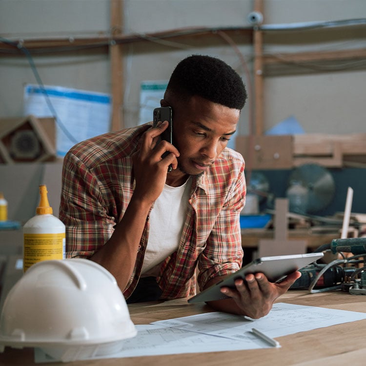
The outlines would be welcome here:
M 18 49 L 20 49 L 20 51 L 22 51 L 24 53 L 24 55 L 26 56 L 28 63 L 31 67 L 31 70 L 33 72 L 34 77 L 36 78 L 36 81 L 38 83 L 38 85 L 41 88 L 42 94 L 44 95 L 45 101 L 47 103 L 47 106 L 49 108 L 49 110 L 52 113 L 52 117 L 55 118 L 56 123 L 59 125 L 59 127 L 61 128 L 62 132 L 66 135 L 66 137 L 73 143 L 77 143 L 78 141 L 74 139 L 74 137 L 72 136 L 72 134 L 68 131 L 68 129 L 66 128 L 66 126 L 61 122 L 60 117 L 57 115 L 57 112 L 49 98 L 49 95 L 47 94 L 47 90 L 44 87 L 43 81 L 41 80 L 41 76 L 38 73 L 36 64 L 34 63 L 34 60 L 32 58 L 32 55 L 30 54 L 29 50 L 24 47 L 22 44 L 20 43 L 16 43 L 10 40 L 6 40 L 2 37 L 0 37 L 0 41 L 9 45 L 12 45 L 14 47 L 17 47 Z

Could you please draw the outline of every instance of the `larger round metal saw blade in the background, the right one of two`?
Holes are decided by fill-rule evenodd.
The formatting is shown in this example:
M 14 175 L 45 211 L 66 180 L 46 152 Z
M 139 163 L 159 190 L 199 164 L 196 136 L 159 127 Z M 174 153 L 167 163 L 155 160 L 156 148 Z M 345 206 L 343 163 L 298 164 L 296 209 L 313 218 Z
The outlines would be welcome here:
M 295 168 L 289 177 L 291 181 L 300 181 L 307 189 L 307 212 L 315 213 L 332 202 L 335 194 L 335 183 L 332 175 L 323 166 L 304 164 Z

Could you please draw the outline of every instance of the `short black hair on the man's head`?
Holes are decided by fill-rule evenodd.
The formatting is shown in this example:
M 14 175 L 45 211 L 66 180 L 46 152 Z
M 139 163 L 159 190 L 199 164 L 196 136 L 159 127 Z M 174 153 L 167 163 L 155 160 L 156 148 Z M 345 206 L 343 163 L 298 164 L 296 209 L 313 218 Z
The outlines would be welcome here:
M 189 98 L 198 95 L 210 102 L 242 109 L 247 98 L 239 74 L 224 61 L 203 55 L 192 55 L 175 67 L 166 93 Z

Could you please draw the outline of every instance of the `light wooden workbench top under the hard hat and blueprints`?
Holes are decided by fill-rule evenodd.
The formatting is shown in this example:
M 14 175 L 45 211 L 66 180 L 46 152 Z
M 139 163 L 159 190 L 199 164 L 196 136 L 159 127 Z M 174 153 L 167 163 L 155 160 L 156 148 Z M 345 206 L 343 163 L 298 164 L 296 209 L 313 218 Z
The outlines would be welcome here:
M 307 294 L 305 291 L 289 291 L 278 299 L 296 305 L 322 306 L 351 311 L 366 311 L 366 296 L 349 295 L 344 292 Z M 157 320 L 188 316 L 210 311 L 207 305 L 188 305 L 183 299 L 165 303 L 129 305 L 131 319 L 135 324 L 148 324 Z M 50 363 L 45 366 L 338 366 L 364 365 L 366 357 L 366 320 L 333 325 L 306 332 L 278 337 L 281 348 L 251 349 L 211 353 L 145 356 L 123 359 L 100 359 L 77 361 L 68 364 Z M 0 365 L 35 365 L 33 350 L 5 348 L 0 354 Z M 249 362 L 250 361 L 250 362 Z

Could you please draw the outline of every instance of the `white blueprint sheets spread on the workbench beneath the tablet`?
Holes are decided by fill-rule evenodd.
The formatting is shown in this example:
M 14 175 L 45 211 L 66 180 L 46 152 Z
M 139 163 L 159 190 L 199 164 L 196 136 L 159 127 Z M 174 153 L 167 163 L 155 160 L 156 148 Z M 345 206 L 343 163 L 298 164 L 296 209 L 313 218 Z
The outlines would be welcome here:
M 284 303 L 274 304 L 261 319 L 203 313 L 136 325 L 137 336 L 125 340 L 122 350 L 93 359 L 269 348 L 272 346 L 258 338 L 252 328 L 276 338 L 362 319 L 366 319 L 366 313 Z M 35 361 L 49 362 L 50 358 L 37 348 Z

